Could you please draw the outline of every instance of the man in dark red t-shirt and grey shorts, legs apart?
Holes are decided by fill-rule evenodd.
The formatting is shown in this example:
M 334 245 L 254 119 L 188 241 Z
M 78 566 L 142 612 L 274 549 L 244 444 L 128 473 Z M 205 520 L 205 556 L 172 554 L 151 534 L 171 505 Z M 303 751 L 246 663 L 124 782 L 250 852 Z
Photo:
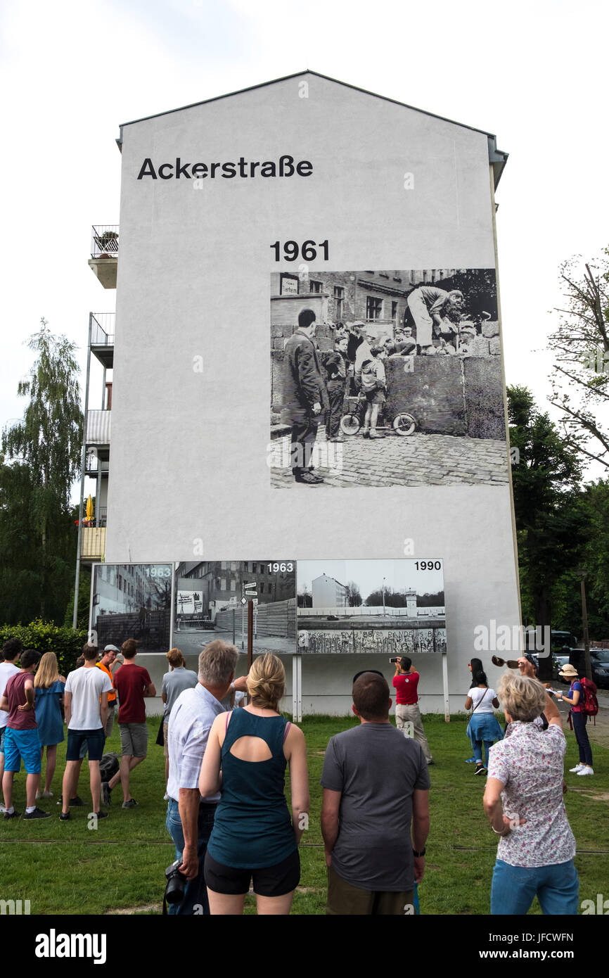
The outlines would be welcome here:
M 136 666 L 138 644 L 135 639 L 127 639 L 122 644 L 124 665 L 113 676 L 114 689 L 118 693 L 118 729 L 120 731 L 120 768 L 109 781 L 104 781 L 102 790 L 104 801 L 108 804 L 110 791 L 120 781 L 123 793 L 123 808 L 135 808 L 137 801 L 131 797 L 129 776 L 134 768 L 146 758 L 148 750 L 148 726 L 146 724 L 146 696 L 155 696 L 148 670 Z

